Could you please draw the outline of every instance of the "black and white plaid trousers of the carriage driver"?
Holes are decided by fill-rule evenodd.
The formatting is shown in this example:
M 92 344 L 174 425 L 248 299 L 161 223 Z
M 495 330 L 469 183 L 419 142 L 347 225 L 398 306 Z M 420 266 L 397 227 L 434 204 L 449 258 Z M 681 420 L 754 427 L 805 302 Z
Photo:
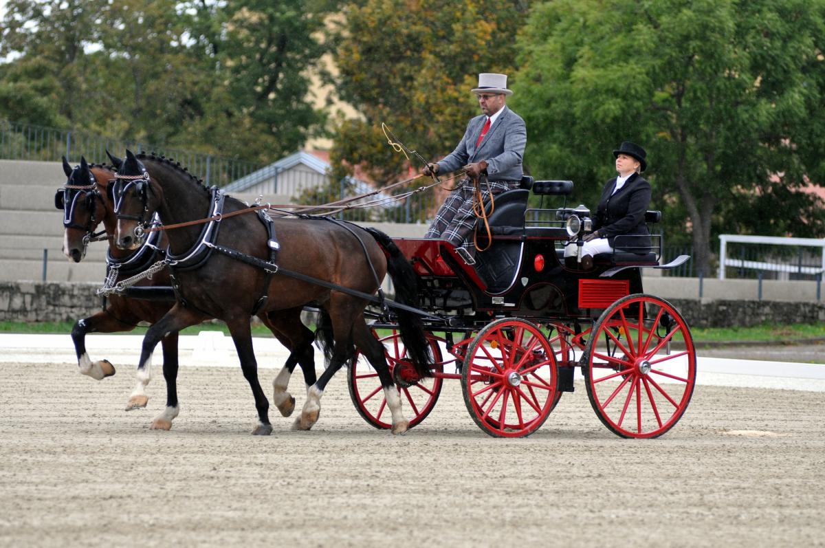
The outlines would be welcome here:
M 518 188 L 520 184 L 518 181 L 481 181 L 479 187 L 483 201 L 487 202 L 491 194 L 501 194 L 503 191 Z M 446 239 L 456 248 L 466 249 L 473 257 L 473 231 L 476 223 L 473 212 L 474 193 L 473 181 L 469 178 L 462 179 L 458 187 L 450 192 L 450 196 L 447 196 L 438 208 L 436 219 L 432 221 L 424 238 Z

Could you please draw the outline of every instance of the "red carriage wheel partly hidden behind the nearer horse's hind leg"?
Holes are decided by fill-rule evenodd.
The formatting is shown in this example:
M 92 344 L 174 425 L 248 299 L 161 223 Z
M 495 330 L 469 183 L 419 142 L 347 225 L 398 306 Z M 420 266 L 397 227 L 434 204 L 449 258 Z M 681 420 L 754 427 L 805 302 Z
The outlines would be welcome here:
M 407 358 L 407 350 L 397 331 L 394 330 L 391 335 L 379 338 L 379 340 L 384 344 L 384 356 L 387 358 L 389 371 L 395 380 L 398 394 L 401 396 L 404 416 L 408 418 L 410 428 L 413 428 L 427 418 L 436 406 L 438 396 L 441 394 L 442 379 L 427 377 L 417 380 L 413 364 Z M 429 334 L 427 340 L 436 361 L 434 371 L 441 371 L 441 349 L 438 341 Z M 361 352 L 356 352 L 352 365 L 349 367 L 347 385 L 349 385 L 352 403 L 367 423 L 375 428 L 392 428 L 392 417 L 389 414 L 387 399 L 381 388 L 378 373 L 361 356 Z

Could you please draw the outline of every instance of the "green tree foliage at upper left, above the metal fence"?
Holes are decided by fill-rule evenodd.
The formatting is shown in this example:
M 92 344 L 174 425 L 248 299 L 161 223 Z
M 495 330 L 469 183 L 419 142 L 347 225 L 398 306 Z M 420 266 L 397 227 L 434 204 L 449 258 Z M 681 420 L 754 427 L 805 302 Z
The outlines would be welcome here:
M 323 131 L 335 2 L 10 0 L 0 116 L 271 160 Z

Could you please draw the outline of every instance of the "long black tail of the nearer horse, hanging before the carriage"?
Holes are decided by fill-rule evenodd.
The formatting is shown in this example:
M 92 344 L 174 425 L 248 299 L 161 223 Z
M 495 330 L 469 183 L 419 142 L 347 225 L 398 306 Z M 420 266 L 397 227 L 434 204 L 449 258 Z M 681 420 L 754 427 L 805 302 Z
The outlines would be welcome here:
M 387 272 L 395 287 L 395 300 L 402 305 L 418 308 L 418 278 L 413 265 L 401 253 L 395 242 L 377 229 L 365 229 L 387 253 Z M 434 358 L 430 350 L 421 316 L 407 310 L 396 309 L 401 339 L 407 347 L 407 355 L 413 360 L 418 376 L 432 376 Z

